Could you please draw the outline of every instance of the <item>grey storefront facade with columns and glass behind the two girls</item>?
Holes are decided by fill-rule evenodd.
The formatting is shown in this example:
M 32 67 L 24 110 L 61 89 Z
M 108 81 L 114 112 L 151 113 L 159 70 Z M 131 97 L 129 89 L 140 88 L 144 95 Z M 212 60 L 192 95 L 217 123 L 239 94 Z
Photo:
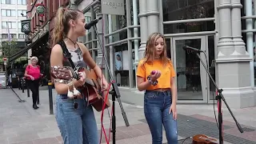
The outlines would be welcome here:
M 143 104 L 143 92 L 136 89 L 136 67 L 148 36 L 160 32 L 177 73 L 178 102 L 213 103 L 216 95 L 197 54 L 182 49 L 187 45 L 205 52 L 200 54 L 202 62 L 231 107 L 256 106 L 254 1 L 125 0 L 125 15 L 102 14 L 102 2 L 74 1 L 71 6 L 91 20 L 102 17 L 97 30 L 104 52 L 93 28 L 80 41 L 99 65 L 104 64 L 104 54 L 122 101 Z M 105 74 L 110 78 L 106 68 Z

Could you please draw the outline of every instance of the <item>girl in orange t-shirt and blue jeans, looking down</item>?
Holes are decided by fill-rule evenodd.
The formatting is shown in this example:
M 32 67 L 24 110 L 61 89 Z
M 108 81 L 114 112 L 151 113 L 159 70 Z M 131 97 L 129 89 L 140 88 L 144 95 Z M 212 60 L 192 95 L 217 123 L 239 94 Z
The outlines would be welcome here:
M 162 124 L 168 144 L 178 144 L 177 88 L 174 66 L 166 56 L 166 42 L 162 34 L 150 34 L 146 42 L 145 58 L 138 63 L 138 90 L 145 90 L 144 114 L 150 127 L 153 144 L 162 144 Z

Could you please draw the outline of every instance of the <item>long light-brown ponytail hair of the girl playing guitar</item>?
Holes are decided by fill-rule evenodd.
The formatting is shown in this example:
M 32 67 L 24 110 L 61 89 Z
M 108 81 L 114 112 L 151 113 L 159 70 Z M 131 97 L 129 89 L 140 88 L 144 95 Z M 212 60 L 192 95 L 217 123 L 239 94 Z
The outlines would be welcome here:
M 53 46 L 57 42 L 61 41 L 70 30 L 70 19 L 73 19 L 75 21 L 80 13 L 82 13 L 82 11 L 80 10 L 68 9 L 63 7 L 58 8 L 54 21 L 54 34 L 52 36 Z

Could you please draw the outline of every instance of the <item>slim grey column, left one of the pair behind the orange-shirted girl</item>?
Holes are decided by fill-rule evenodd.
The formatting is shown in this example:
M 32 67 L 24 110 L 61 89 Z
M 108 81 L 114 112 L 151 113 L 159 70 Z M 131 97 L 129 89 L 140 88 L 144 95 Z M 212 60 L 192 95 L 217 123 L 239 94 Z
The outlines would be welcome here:
M 138 0 L 139 1 L 139 22 L 141 31 L 141 46 L 138 49 L 138 59 L 144 57 L 144 52 L 146 50 L 146 40 L 147 40 L 147 18 L 146 18 L 146 3 L 148 0 Z

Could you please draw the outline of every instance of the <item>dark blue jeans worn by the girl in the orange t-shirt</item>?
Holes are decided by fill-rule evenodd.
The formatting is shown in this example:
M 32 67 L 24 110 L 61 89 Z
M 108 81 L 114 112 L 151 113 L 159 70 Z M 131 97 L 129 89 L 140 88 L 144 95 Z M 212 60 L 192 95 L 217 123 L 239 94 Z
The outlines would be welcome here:
M 162 144 L 162 124 L 168 144 L 178 144 L 177 121 L 172 113 L 169 114 L 171 101 L 170 90 L 146 90 L 144 94 L 144 114 L 150 127 L 152 144 Z

